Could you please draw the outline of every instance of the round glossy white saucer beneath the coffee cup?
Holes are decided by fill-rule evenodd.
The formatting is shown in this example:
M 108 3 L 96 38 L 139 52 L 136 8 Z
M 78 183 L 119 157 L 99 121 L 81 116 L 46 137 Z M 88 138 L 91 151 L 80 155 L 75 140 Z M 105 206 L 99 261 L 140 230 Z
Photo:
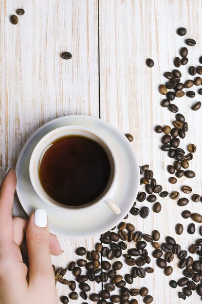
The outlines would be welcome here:
M 111 199 L 119 206 L 121 214 L 114 214 L 105 203 L 89 210 L 88 213 L 84 213 L 82 209 L 76 215 L 71 212 L 61 212 L 44 203 L 35 192 L 29 176 L 31 154 L 44 135 L 55 128 L 67 125 L 85 126 L 98 132 L 117 152 L 117 189 L 112 193 Z M 140 182 L 139 165 L 126 136 L 108 122 L 84 115 L 56 118 L 35 131 L 19 153 L 16 174 L 18 180 L 16 190 L 25 212 L 30 216 L 38 208 L 46 209 L 50 232 L 73 238 L 100 235 L 120 222 L 134 203 Z

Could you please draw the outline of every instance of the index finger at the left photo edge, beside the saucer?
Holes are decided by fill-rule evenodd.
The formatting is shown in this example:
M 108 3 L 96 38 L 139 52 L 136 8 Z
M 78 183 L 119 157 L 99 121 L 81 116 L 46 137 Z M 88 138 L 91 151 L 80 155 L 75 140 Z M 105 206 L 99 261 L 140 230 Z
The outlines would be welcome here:
M 0 249 L 14 241 L 12 207 L 16 182 L 15 170 L 10 169 L 0 185 Z

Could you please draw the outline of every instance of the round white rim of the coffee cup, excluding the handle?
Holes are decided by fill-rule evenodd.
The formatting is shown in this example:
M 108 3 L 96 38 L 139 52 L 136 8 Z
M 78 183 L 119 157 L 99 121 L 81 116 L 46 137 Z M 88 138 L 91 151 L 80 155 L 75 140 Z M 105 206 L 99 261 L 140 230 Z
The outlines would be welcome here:
M 110 182 L 110 185 L 108 183 L 108 185 L 106 186 L 105 190 L 101 193 L 101 195 L 96 198 L 94 201 L 92 201 L 91 203 L 89 204 L 85 204 L 84 206 L 81 206 L 81 207 L 71 207 L 71 206 L 65 206 L 65 205 L 62 205 L 58 202 L 56 202 L 54 199 L 52 199 L 47 193 L 46 191 L 43 189 L 43 187 L 41 186 L 41 189 L 43 189 L 41 191 L 41 189 L 38 187 L 37 185 L 37 181 L 35 179 L 35 170 L 34 168 L 36 168 L 37 166 L 37 170 L 38 170 L 38 165 L 39 165 L 39 162 L 40 162 L 40 159 L 41 159 L 41 155 L 42 153 L 44 152 L 44 149 L 46 149 L 45 147 L 45 143 L 48 142 L 50 139 L 51 139 L 51 135 L 55 135 L 56 132 L 58 131 L 68 131 L 68 130 L 77 130 L 77 131 L 87 131 L 88 133 L 91 133 L 92 135 L 95 135 L 101 142 L 104 143 L 104 145 L 107 147 L 107 149 L 109 150 L 110 152 L 110 156 L 112 158 L 112 161 L 113 161 L 113 177 L 111 178 L 110 176 L 110 179 L 109 179 L 109 182 Z M 62 134 L 58 136 L 59 137 L 62 137 Z M 39 156 L 38 156 L 38 161 L 36 162 L 35 164 L 35 160 L 36 160 L 36 152 L 37 152 L 37 149 L 39 147 L 39 145 L 42 145 L 44 146 L 43 149 L 41 149 L 41 153 L 39 153 Z M 100 144 L 100 142 L 99 142 Z M 105 147 L 104 147 L 105 148 Z M 106 149 L 105 149 L 106 150 Z M 108 151 L 106 151 L 108 153 Z M 108 153 L 108 157 L 109 157 L 109 153 Z M 110 158 L 110 157 L 109 157 Z M 116 175 L 116 172 L 117 169 L 116 169 L 116 158 L 115 158 L 115 153 L 113 152 L 113 150 L 111 149 L 111 146 L 109 143 L 107 143 L 105 141 L 105 139 L 99 135 L 98 132 L 88 128 L 88 127 L 84 127 L 84 126 L 79 126 L 79 125 L 68 125 L 68 126 L 62 126 L 62 127 L 58 127 L 58 128 L 55 128 L 54 130 L 50 131 L 49 133 L 47 133 L 46 135 L 44 135 L 38 142 L 37 142 L 37 145 L 35 146 L 32 154 L 31 154 L 31 157 L 30 157 L 30 162 L 29 162 L 29 176 L 30 176 L 30 180 L 31 180 L 31 184 L 34 188 L 34 190 L 36 191 L 37 195 L 43 200 L 44 203 L 47 203 L 48 205 L 60 210 L 60 211 L 63 211 L 63 212 L 71 212 L 71 213 L 75 213 L 75 212 L 80 212 L 80 210 L 85 210 L 85 209 L 92 209 L 94 207 L 96 207 L 97 204 L 102 204 L 104 203 L 104 199 L 107 197 L 107 196 L 110 196 L 109 192 L 110 192 L 110 189 L 111 187 L 113 186 L 114 184 L 114 181 L 115 181 L 115 175 Z M 39 180 L 39 179 L 38 179 Z M 39 183 L 39 181 L 38 181 Z M 45 195 L 44 195 L 45 194 Z

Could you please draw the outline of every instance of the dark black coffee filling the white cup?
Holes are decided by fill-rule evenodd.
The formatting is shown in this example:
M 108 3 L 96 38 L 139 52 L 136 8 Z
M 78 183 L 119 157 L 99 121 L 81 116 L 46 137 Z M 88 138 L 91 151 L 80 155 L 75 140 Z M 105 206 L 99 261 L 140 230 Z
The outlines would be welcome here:
M 66 206 L 91 203 L 110 179 L 110 160 L 103 147 L 83 136 L 55 142 L 40 165 L 41 184 L 56 202 Z

